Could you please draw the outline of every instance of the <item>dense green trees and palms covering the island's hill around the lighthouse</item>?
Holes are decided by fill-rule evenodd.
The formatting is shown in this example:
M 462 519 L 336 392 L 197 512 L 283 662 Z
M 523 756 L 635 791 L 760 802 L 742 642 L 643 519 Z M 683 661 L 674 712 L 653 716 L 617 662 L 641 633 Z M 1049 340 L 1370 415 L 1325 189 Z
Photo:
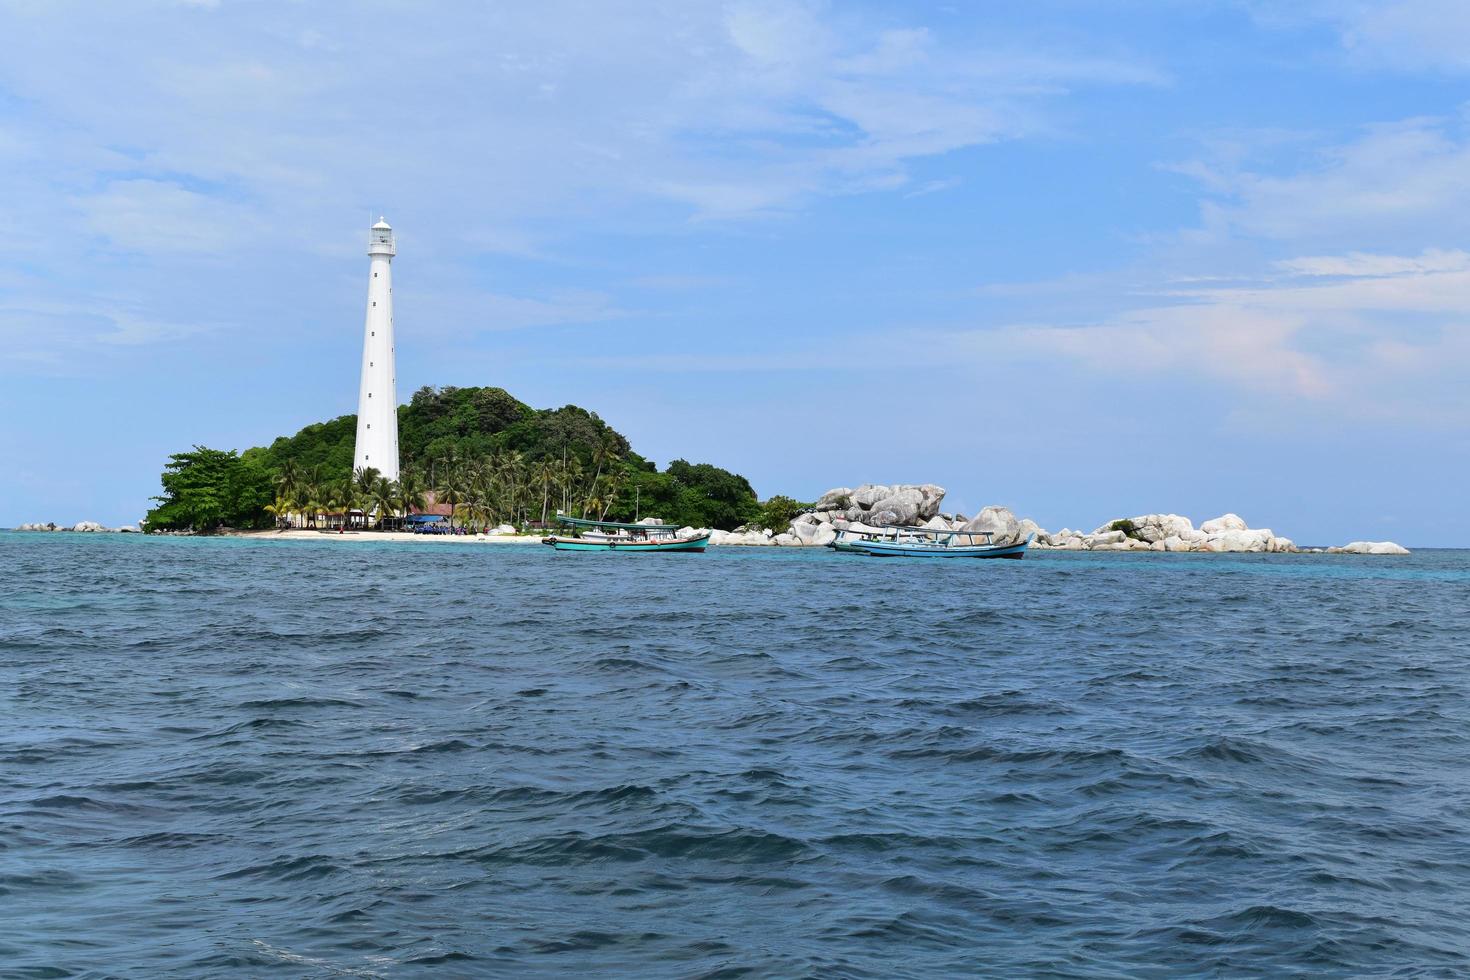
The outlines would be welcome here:
M 426 492 L 472 526 L 547 520 L 562 510 L 731 529 L 761 513 L 756 491 L 736 473 L 685 460 L 660 473 L 595 413 L 531 408 L 503 388 L 416 391 L 398 407 L 398 482 L 382 480 L 376 470 L 351 472 L 356 436 L 357 417 L 341 416 L 238 458 L 219 454 L 259 478 L 251 495 L 240 497 L 243 508 L 228 517 L 215 517 L 219 492 L 200 489 L 196 500 L 193 486 L 169 491 L 165 475 L 173 495 L 150 514 L 148 526 L 256 527 L 269 526 L 272 514 L 315 525 L 319 514 L 347 510 L 406 514 L 423 507 Z

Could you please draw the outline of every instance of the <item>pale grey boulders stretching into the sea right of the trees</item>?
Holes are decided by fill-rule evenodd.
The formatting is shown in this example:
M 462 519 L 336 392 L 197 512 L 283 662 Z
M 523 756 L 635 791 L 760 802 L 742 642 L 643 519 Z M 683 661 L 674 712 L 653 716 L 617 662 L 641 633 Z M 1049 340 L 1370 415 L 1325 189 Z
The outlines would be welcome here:
M 1270 527 L 1251 527 L 1238 514 L 1222 514 L 1198 527 L 1180 514 L 1136 514 L 1119 517 L 1092 530 L 1063 527 L 1050 532 L 1008 507 L 983 507 L 976 516 L 944 513 L 945 489 L 935 483 L 864 483 L 856 489 L 838 486 L 823 494 L 808 513 L 785 530 L 738 527 L 710 532 L 711 545 L 803 548 L 831 544 L 839 529 L 931 527 L 935 530 L 988 530 L 995 544 L 1025 541 L 1039 551 L 1172 551 L 1204 554 L 1370 554 L 1402 555 L 1408 550 L 1392 541 L 1354 541 L 1335 548 L 1299 548 Z M 692 532 L 692 527 L 686 527 Z

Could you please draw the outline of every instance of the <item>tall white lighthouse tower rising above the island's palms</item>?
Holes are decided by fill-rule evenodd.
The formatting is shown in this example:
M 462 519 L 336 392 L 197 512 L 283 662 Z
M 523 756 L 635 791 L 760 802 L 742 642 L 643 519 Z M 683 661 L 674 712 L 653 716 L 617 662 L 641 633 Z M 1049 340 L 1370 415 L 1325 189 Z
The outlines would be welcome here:
M 368 322 L 363 381 L 357 391 L 357 450 L 353 470 L 376 467 L 398 479 L 398 378 L 392 341 L 392 228 L 382 217 L 368 234 Z

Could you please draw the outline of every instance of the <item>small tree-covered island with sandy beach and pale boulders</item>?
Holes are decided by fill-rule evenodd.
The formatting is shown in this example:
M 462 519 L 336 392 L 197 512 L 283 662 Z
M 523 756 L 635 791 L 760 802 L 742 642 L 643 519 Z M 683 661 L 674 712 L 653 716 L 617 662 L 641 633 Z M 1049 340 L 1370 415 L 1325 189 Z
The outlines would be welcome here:
M 628 438 L 578 406 L 532 408 L 503 388 L 420 388 L 397 413 L 398 479 L 353 469 L 356 416 L 309 425 L 243 453 L 197 445 L 175 453 L 163 492 L 137 526 L 26 523 L 19 530 L 148 533 L 375 532 L 401 539 L 539 541 L 557 514 L 669 522 L 710 530 L 710 544 L 825 547 L 838 529 L 980 530 L 1039 551 L 1402 555 L 1392 541 L 1301 548 L 1236 514 L 1200 523 L 1135 514 L 1092 530 L 1048 532 L 1003 505 L 973 517 L 945 511 L 935 483 L 838 486 L 816 501 L 760 500 L 750 480 L 711 463 L 662 470 Z M 434 532 L 434 533 L 429 533 Z M 344 533 L 345 536 L 345 533 Z

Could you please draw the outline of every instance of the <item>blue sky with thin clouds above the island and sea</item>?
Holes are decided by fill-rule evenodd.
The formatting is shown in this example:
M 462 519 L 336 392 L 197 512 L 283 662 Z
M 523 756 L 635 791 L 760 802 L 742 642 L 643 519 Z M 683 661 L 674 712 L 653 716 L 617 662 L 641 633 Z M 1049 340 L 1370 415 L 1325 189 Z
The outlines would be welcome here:
M 1470 545 L 1470 6 L 0 0 L 0 525 L 398 385 L 764 495 Z

